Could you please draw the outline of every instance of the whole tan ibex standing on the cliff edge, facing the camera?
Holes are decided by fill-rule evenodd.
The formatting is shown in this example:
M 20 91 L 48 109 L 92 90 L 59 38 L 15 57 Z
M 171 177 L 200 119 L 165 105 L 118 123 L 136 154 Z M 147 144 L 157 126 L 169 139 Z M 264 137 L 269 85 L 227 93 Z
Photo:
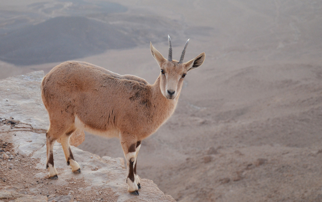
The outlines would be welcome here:
M 160 75 L 153 85 L 133 75 L 119 75 L 86 62 L 67 61 L 54 67 L 41 84 L 41 95 L 50 127 L 46 133 L 48 177 L 58 179 L 54 167 L 53 145 L 60 139 L 71 171 L 80 173 L 69 138 L 78 128 L 105 137 L 119 137 L 127 162 L 128 192 L 138 195 L 137 153 L 141 141 L 173 114 L 183 80 L 192 69 L 201 66 L 205 53 L 183 63 L 186 42 L 180 60 L 172 60 L 172 42 L 165 59 L 150 42 Z

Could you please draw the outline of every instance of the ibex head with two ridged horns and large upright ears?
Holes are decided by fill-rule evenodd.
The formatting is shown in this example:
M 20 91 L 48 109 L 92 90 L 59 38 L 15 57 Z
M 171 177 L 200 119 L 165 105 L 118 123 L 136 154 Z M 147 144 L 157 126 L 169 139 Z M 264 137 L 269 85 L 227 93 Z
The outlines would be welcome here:
M 172 60 L 172 42 L 170 36 L 169 39 L 169 54 L 168 59 L 165 59 L 159 51 L 157 51 L 150 42 L 151 53 L 158 63 L 161 75 L 160 75 L 160 89 L 162 95 L 168 99 L 174 99 L 180 94 L 183 79 L 188 71 L 196 69 L 204 63 L 205 53 L 201 53 L 194 59 L 183 63 L 185 57 L 185 49 L 187 48 L 188 41 L 185 43 L 185 47 L 182 51 L 180 60 Z

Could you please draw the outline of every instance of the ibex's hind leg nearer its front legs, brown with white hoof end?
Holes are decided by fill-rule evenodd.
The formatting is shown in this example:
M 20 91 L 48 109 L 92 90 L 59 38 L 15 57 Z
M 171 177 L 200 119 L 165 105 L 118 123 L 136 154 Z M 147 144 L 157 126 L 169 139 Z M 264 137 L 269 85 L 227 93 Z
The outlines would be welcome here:
M 81 173 L 81 167 L 78 165 L 78 163 L 75 161 L 73 153 L 71 152 L 71 147 L 69 145 L 69 139 L 71 137 L 71 134 L 76 130 L 76 128 L 71 128 L 67 131 L 67 133 L 64 133 L 60 137 L 60 141 L 62 144 L 62 149 L 65 154 L 66 162 L 68 166 L 71 166 L 71 171 L 73 173 Z

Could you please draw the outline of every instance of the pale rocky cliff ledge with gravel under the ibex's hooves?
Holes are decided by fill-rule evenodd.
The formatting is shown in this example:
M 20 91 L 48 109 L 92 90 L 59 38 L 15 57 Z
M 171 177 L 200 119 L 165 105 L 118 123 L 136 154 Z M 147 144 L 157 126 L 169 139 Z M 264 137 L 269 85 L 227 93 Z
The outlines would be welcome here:
M 0 202 L 175 201 L 148 179 L 141 179 L 139 196 L 130 195 L 123 158 L 101 158 L 71 146 L 82 170 L 74 174 L 57 142 L 59 179 L 46 179 L 49 119 L 40 96 L 43 76 L 37 71 L 0 80 Z

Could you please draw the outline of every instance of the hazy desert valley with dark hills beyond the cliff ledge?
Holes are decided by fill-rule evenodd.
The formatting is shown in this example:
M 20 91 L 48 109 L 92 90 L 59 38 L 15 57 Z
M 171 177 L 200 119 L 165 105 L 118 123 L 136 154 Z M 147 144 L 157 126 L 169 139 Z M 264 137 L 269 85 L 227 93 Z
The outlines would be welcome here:
M 113 3 L 114 2 L 114 3 Z M 322 201 L 319 1 L 0 1 L 0 79 L 65 60 L 154 83 L 149 42 L 205 52 L 137 172 L 177 201 Z M 80 149 L 123 157 L 118 139 Z M 77 161 L 77 159 L 76 159 Z

